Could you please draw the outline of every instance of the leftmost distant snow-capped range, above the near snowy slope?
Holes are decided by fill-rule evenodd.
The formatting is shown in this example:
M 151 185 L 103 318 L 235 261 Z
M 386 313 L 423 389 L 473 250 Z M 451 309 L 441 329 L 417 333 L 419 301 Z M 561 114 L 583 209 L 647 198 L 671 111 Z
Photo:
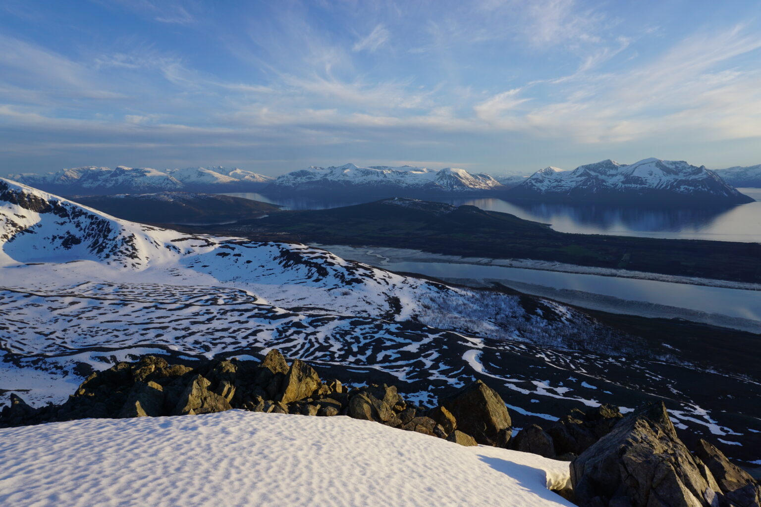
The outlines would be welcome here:
M 56 173 L 14 174 L 10 179 L 49 192 L 73 194 L 113 194 L 118 192 L 235 192 L 260 190 L 274 178 L 222 166 L 187 167 L 159 171 L 147 167 L 75 167 Z

